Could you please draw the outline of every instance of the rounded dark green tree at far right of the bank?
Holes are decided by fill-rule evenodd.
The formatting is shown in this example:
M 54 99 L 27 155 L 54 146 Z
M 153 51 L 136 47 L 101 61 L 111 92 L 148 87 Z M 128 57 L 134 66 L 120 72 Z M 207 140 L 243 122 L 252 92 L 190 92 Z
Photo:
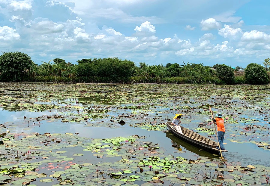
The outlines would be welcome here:
M 245 68 L 246 81 L 253 85 L 268 83 L 267 73 L 262 65 L 250 63 Z

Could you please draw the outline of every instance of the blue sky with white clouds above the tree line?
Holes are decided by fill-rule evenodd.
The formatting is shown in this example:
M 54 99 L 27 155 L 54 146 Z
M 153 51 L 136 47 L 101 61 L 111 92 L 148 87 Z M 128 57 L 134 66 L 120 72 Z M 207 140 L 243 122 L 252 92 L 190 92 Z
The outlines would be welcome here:
M 38 65 L 118 57 L 137 66 L 263 66 L 269 7 L 263 0 L 0 0 L 0 50 Z

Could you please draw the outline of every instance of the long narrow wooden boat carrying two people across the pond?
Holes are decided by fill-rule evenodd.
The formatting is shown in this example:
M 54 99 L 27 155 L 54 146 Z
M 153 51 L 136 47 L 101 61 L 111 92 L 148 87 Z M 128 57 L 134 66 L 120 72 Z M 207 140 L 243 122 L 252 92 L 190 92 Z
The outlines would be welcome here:
M 173 129 L 174 125 L 171 122 L 166 122 L 166 125 L 170 129 L 170 131 L 180 139 L 187 141 L 205 151 L 216 153 L 220 152 L 220 150 L 217 149 L 218 143 L 211 140 L 210 138 L 206 138 L 205 136 L 199 135 L 197 132 L 184 128 L 183 126 L 181 126 L 183 134 L 180 134 L 175 129 Z M 221 152 L 228 152 L 228 150 L 221 150 Z

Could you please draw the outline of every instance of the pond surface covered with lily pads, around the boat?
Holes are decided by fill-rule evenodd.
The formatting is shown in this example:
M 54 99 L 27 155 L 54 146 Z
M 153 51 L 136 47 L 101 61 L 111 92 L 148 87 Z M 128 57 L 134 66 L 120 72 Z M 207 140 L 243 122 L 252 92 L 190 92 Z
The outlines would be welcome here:
M 0 83 L 0 98 L 6 185 L 264 185 L 269 176 L 269 86 Z M 227 118 L 223 160 L 164 124 L 182 113 L 182 126 L 216 141 L 209 106 Z

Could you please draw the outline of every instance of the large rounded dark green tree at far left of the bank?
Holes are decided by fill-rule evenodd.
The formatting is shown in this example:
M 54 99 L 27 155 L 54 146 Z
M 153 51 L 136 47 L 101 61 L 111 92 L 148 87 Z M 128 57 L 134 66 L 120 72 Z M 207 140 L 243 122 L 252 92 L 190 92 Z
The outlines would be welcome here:
M 22 81 L 29 74 L 34 62 L 22 52 L 2 52 L 0 56 L 0 81 Z

